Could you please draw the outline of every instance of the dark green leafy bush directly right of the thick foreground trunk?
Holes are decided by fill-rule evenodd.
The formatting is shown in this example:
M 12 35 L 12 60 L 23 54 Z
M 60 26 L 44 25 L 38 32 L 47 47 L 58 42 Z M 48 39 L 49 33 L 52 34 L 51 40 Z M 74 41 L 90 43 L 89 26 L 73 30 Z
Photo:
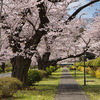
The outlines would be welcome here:
M 28 85 L 32 86 L 35 82 L 38 82 L 42 79 L 42 76 L 38 70 L 29 70 L 28 71 Z

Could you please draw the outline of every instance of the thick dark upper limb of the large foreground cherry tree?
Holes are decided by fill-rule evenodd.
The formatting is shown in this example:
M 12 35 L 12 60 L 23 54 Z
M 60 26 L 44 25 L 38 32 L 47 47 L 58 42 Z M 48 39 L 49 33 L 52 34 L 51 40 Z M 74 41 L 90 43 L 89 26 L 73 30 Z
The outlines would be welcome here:
M 40 2 L 41 0 L 38 0 Z M 47 30 L 44 30 L 46 24 L 49 23 L 49 19 L 46 16 L 47 12 L 47 7 L 44 2 L 41 2 L 37 5 L 38 12 L 39 12 L 39 19 L 40 19 L 40 24 L 39 28 L 36 30 L 35 34 L 31 37 L 30 40 L 27 41 L 25 44 L 25 49 L 30 48 L 30 46 L 34 46 L 34 49 L 36 49 L 38 43 L 40 42 L 41 38 L 43 35 L 47 34 Z M 41 28 L 43 30 L 41 30 Z

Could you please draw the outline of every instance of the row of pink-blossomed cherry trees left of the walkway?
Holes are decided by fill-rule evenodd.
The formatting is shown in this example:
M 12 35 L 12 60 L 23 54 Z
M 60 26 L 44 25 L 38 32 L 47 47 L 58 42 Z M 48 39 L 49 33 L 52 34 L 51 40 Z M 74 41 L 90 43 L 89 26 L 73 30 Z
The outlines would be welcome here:
M 34 54 L 39 69 L 43 70 L 50 65 L 56 66 L 58 61 L 83 55 L 82 48 L 77 51 L 74 45 L 80 43 L 78 40 L 83 34 L 86 21 L 75 17 L 82 9 L 100 0 L 92 0 L 69 15 L 67 8 L 69 4 L 76 1 L 4 1 L 1 16 L 1 32 L 4 40 L 2 50 L 7 49 L 6 52 L 9 52 L 13 66 L 12 76 L 21 80 L 24 85 L 27 84 L 27 72 Z M 87 51 L 90 40 L 85 41 L 83 37 L 82 40 Z M 65 50 L 61 48 L 62 45 L 66 48 Z M 59 51 L 63 51 L 65 56 L 61 57 L 62 52 L 59 53 Z M 52 56 L 54 54 L 55 57 Z

